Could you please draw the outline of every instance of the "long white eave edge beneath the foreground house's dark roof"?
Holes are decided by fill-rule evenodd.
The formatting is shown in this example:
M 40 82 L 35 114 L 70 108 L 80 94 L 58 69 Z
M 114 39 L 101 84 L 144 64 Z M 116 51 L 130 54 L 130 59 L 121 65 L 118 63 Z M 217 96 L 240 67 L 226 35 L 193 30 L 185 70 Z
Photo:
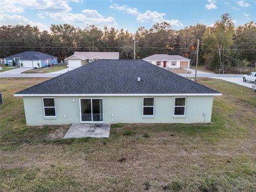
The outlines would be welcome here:
M 221 93 L 170 93 L 170 94 L 19 94 L 14 97 L 118 97 L 118 96 L 221 96 Z

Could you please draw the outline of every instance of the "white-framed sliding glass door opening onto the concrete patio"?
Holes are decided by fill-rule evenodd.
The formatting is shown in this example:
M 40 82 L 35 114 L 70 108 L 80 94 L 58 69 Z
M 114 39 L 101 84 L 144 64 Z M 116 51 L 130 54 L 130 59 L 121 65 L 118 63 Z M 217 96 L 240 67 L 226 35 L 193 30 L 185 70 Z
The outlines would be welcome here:
M 102 99 L 80 99 L 81 122 L 103 122 Z

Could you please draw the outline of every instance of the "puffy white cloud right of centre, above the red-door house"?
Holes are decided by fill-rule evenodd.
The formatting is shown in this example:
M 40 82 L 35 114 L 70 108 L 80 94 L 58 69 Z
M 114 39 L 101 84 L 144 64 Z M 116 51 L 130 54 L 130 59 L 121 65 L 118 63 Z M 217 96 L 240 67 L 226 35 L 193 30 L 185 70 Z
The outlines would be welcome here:
M 139 13 L 137 21 L 139 22 L 168 22 L 173 26 L 182 26 L 182 23 L 179 20 L 165 20 L 165 13 L 158 13 L 157 11 L 146 11 L 145 13 Z

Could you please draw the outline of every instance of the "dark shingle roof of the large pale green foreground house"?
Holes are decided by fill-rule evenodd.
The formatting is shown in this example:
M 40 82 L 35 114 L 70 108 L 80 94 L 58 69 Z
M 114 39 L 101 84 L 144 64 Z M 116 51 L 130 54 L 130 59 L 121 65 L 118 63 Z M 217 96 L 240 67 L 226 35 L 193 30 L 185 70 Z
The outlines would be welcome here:
M 138 77 L 141 81 L 138 81 Z M 219 93 L 143 60 L 97 60 L 17 94 Z

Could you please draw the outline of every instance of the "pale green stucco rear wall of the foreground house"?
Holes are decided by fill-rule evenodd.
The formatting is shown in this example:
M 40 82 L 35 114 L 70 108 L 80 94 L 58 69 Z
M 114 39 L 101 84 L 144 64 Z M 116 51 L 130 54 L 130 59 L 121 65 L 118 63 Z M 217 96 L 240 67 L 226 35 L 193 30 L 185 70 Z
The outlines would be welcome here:
M 44 118 L 42 97 L 23 97 L 27 125 L 80 123 L 79 98 L 54 97 L 56 118 Z M 155 97 L 154 118 L 142 117 L 143 97 L 102 98 L 104 123 L 209 123 L 213 96 L 187 97 L 186 116 L 173 116 L 174 97 Z M 73 102 L 74 100 L 74 102 Z M 205 119 L 204 115 L 206 114 Z

